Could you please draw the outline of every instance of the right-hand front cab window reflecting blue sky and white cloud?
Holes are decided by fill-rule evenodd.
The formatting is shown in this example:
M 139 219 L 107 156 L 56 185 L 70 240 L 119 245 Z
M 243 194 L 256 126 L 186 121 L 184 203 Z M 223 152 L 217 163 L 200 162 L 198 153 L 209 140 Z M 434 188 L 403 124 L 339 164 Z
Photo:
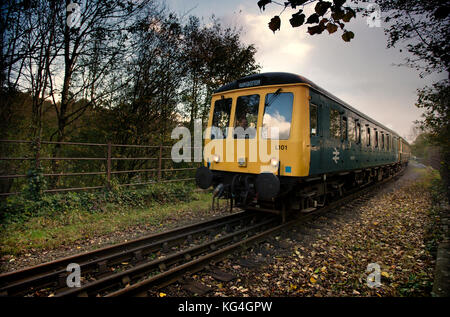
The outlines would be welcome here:
M 264 102 L 262 136 L 265 139 L 287 140 L 291 131 L 294 94 L 267 94 Z

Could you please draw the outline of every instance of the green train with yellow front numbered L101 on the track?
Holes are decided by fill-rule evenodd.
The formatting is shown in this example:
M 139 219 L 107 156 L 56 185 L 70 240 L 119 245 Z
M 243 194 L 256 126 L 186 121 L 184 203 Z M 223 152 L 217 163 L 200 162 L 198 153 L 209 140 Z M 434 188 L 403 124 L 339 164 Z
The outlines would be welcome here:
M 214 91 L 195 181 L 231 208 L 285 216 L 390 177 L 410 155 L 396 132 L 307 78 L 260 73 Z

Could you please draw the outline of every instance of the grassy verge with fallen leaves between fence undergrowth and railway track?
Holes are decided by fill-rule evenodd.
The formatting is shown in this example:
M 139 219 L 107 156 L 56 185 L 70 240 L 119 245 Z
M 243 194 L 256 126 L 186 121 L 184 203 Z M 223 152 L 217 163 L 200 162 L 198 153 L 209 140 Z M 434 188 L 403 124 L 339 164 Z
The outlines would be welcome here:
M 194 193 L 189 202 L 160 204 L 151 202 L 146 207 L 126 208 L 107 204 L 106 211 L 87 210 L 61 212 L 52 217 L 35 216 L 23 223 L 9 223 L 0 233 L 0 254 L 19 255 L 31 250 L 53 249 L 77 241 L 114 232 L 132 230 L 136 226 L 154 230 L 165 225 L 175 226 L 186 216 L 195 217 L 208 210 L 210 193 Z

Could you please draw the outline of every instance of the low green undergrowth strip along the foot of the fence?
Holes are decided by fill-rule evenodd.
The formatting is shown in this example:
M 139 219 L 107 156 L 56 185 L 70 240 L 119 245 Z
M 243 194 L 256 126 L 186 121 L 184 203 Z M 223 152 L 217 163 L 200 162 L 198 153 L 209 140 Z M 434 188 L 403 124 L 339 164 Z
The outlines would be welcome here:
M 125 189 L 116 184 L 111 190 L 47 194 L 40 199 L 28 194 L 10 196 L 0 205 L 0 223 L 23 223 L 30 217 L 55 217 L 74 210 L 107 212 L 106 206 L 111 205 L 144 207 L 152 202 L 186 202 L 194 197 L 193 189 L 193 185 L 183 183 L 160 183 L 135 189 Z

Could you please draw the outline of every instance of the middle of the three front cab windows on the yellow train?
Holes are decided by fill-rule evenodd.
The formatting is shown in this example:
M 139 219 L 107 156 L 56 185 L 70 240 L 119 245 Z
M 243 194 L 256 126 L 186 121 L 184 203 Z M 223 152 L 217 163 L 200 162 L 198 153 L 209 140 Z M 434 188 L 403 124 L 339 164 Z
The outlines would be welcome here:
M 234 138 L 254 139 L 258 121 L 259 95 L 239 96 L 236 101 Z

